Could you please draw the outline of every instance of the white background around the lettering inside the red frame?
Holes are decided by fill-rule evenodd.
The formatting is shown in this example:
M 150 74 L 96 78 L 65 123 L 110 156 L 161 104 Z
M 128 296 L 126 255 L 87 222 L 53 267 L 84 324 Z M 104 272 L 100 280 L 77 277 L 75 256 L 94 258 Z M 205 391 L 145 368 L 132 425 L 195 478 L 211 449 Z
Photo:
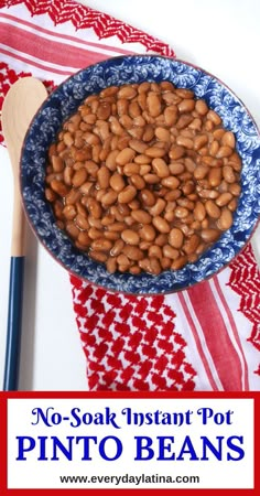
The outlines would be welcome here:
M 62 421 L 57 425 L 46 427 L 44 422 L 39 422 L 35 425 L 36 416 L 32 414 L 32 410 L 42 408 L 45 412 L 46 408 L 53 408 L 50 412 L 58 412 L 62 418 L 68 418 L 68 420 Z M 79 417 L 83 418 L 85 412 L 91 412 L 95 418 L 95 413 L 99 412 L 100 418 L 104 419 L 104 424 L 90 423 L 89 425 L 82 424 L 78 427 L 71 427 L 71 422 L 75 425 L 75 419 L 72 417 L 71 411 L 74 408 L 80 409 Z M 110 409 L 111 413 L 116 413 L 116 423 L 119 429 L 111 424 L 106 424 L 106 408 Z M 130 408 L 136 413 L 152 413 L 152 423 L 143 425 L 137 425 L 132 421 L 127 423 L 126 416 L 122 414 L 122 410 Z M 199 413 L 201 409 L 206 409 L 208 417 L 205 424 L 203 424 L 203 417 Z M 20 412 L 19 418 L 17 412 Z M 189 420 L 177 423 L 172 420 L 172 424 L 163 424 L 163 416 L 159 416 L 159 424 L 155 424 L 154 412 L 156 410 L 161 412 L 167 412 L 169 416 L 174 419 L 171 413 L 187 412 Z M 210 412 L 212 410 L 212 412 Z M 228 412 L 232 413 L 228 413 Z M 55 416 L 57 418 L 57 416 Z M 89 418 L 89 416 L 87 416 Z M 133 416 L 132 416 L 133 418 Z M 138 417 L 140 419 L 140 416 Z M 186 417 L 188 419 L 188 417 Z M 215 419 L 215 420 L 214 420 Z M 247 419 L 247 422 L 245 422 Z M 32 422 L 34 425 L 32 425 Z M 220 423 L 223 422 L 223 423 Z M 183 454 L 183 460 L 177 460 L 181 454 L 182 446 L 185 441 L 185 436 L 191 438 L 192 445 L 194 446 L 196 457 L 199 460 L 189 460 L 189 454 Z M 17 436 L 31 436 L 35 440 L 35 448 L 32 451 L 25 453 L 24 461 L 17 461 L 18 457 L 18 440 Z M 44 452 L 41 452 L 40 456 L 40 440 L 39 436 L 46 436 L 47 440 L 44 443 Z M 73 440 L 73 460 L 68 461 L 63 453 L 57 450 L 56 456 L 59 460 L 52 461 L 54 455 L 53 444 L 51 436 L 57 436 L 64 446 L 68 448 L 68 441 L 66 436 L 96 436 L 97 444 L 89 442 L 89 456 L 91 460 L 83 461 L 84 450 L 82 441 L 76 443 Z M 122 443 L 122 454 L 115 461 L 107 462 L 104 460 L 98 451 L 100 441 L 106 436 L 116 436 Z M 151 460 L 144 460 L 148 456 L 147 450 L 141 450 L 142 460 L 134 461 L 137 456 L 137 441 L 134 436 L 149 436 L 152 438 L 152 450 L 154 456 Z M 173 436 L 173 441 L 165 441 L 165 446 L 169 444 L 169 451 L 165 449 L 163 456 L 165 460 L 156 460 L 159 457 L 159 448 L 156 436 Z M 212 444 L 218 451 L 218 436 L 224 436 L 221 460 L 219 461 L 210 450 L 206 449 L 206 456 L 208 460 L 203 459 L 203 440 L 201 436 L 207 436 Z M 227 439 L 230 436 L 242 436 L 242 443 L 238 440 L 234 440 L 234 444 L 239 446 L 245 452 L 245 456 L 238 460 L 238 452 L 230 450 L 227 446 Z M 83 399 L 9 399 L 8 400 L 8 487 L 9 488 L 57 488 L 67 487 L 68 485 L 61 485 L 59 475 L 198 475 L 201 484 L 192 485 L 178 484 L 181 488 L 252 488 L 253 487 L 253 400 L 252 399 L 160 399 L 160 408 L 158 408 L 158 398 L 142 399 L 138 401 L 133 399 L 95 399 L 91 401 Z M 144 442 L 142 444 L 145 445 Z M 24 448 L 29 448 L 29 441 L 24 441 Z M 185 446 L 188 451 L 187 445 Z M 117 453 L 115 449 L 115 442 L 109 440 L 105 444 L 105 453 L 108 457 L 113 457 Z M 227 461 L 227 454 L 230 454 L 235 461 Z M 175 454 L 175 460 L 171 459 Z M 20 453 L 20 456 L 22 453 Z M 39 457 L 46 457 L 45 461 L 39 461 Z M 72 487 L 75 487 L 72 486 Z M 78 484 L 78 488 L 86 488 L 86 486 Z M 97 484 L 88 484 L 89 487 L 115 487 L 115 485 L 106 484 L 105 486 Z M 117 486 L 127 487 L 127 485 Z M 131 486 L 132 487 L 132 486 Z M 150 484 L 142 485 L 142 488 L 149 487 L 172 487 L 175 485 L 159 485 Z

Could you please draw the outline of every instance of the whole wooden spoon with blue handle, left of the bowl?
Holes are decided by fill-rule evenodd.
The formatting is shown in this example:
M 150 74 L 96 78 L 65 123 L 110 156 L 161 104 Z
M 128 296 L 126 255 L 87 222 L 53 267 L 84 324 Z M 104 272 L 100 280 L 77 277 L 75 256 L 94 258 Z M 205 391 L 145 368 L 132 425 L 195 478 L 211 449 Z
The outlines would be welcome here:
M 22 328 L 25 217 L 20 193 L 20 155 L 29 125 L 47 96 L 43 84 L 24 77 L 9 89 L 2 106 L 2 130 L 13 172 L 13 220 L 3 390 L 15 391 Z

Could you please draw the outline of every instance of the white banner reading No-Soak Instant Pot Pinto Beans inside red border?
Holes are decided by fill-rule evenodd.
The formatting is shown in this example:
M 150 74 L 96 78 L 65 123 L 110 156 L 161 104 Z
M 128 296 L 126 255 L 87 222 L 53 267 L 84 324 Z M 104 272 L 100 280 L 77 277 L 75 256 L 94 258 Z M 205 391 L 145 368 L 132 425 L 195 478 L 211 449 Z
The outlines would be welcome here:
M 8 488 L 253 488 L 251 398 L 9 398 Z

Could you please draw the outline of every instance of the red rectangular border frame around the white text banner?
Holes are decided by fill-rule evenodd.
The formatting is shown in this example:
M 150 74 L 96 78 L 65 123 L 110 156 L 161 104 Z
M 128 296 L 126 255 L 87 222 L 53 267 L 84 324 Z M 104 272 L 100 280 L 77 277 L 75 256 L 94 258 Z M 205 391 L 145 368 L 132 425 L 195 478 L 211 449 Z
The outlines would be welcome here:
M 82 399 L 82 398 L 251 398 L 254 400 L 254 488 L 253 489 L 143 489 L 143 488 L 126 488 L 126 489 L 8 489 L 7 488 L 7 405 L 8 405 L 8 398 L 75 398 L 75 399 Z M 80 496 L 83 494 L 83 490 L 87 492 L 87 495 L 89 496 L 98 496 L 104 495 L 105 496 L 130 496 L 134 494 L 136 496 L 143 496 L 143 495 L 162 495 L 163 492 L 165 492 L 167 495 L 174 493 L 174 495 L 182 495 L 186 496 L 187 494 L 194 494 L 203 495 L 203 496 L 210 496 L 210 495 L 218 495 L 221 496 L 257 496 L 260 494 L 260 471 L 257 468 L 260 466 L 260 453 L 257 450 L 257 440 L 260 439 L 260 423 L 257 421 L 257 419 L 260 418 L 260 391 L 251 391 L 251 392 L 169 392 L 169 391 L 162 391 L 162 392 L 119 392 L 119 391 L 104 391 L 104 392 L 56 392 L 56 391 L 30 391 L 30 392 L 0 392 L 0 460 L 1 460 L 1 468 L 0 468 L 0 495 L 1 496 L 52 496 L 52 495 L 59 495 L 62 492 L 65 490 L 66 495 L 74 495 L 74 496 Z M 245 419 L 246 420 L 246 419 Z

